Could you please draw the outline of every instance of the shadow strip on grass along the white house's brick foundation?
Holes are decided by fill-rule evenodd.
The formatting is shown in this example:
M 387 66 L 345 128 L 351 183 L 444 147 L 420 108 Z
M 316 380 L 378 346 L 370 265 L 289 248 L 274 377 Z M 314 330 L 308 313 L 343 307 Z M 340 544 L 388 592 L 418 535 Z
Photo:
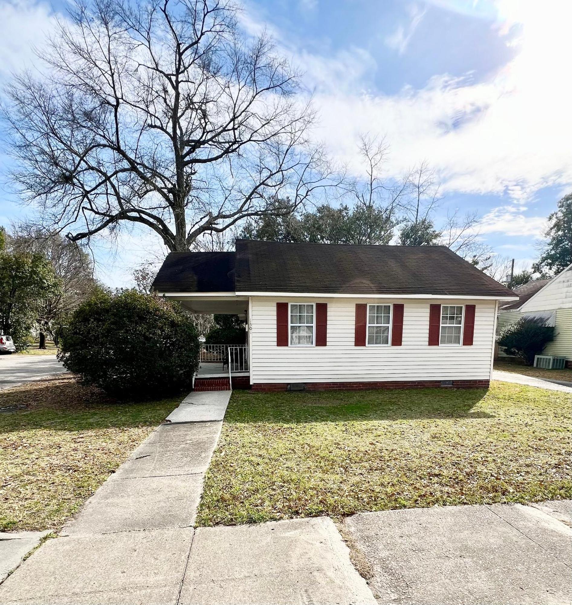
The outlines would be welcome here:
M 252 393 L 235 391 L 227 408 L 229 423 L 352 422 L 491 418 L 473 409 L 487 389 L 395 389 Z

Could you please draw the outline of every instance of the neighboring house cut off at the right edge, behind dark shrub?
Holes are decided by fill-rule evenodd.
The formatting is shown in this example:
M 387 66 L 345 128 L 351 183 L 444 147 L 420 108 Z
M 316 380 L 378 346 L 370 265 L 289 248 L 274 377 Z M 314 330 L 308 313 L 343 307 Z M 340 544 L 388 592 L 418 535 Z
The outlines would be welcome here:
M 542 352 L 572 362 L 572 264 L 551 280 L 530 281 L 515 289 L 519 299 L 499 306 L 498 330 L 521 317 L 542 318 L 555 338 Z

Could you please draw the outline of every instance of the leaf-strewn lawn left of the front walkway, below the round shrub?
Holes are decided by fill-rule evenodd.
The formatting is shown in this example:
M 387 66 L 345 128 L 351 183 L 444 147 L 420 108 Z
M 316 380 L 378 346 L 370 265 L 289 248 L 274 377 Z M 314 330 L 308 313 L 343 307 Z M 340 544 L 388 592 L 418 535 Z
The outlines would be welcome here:
M 118 403 L 73 377 L 0 391 L 0 531 L 59 528 L 180 402 Z

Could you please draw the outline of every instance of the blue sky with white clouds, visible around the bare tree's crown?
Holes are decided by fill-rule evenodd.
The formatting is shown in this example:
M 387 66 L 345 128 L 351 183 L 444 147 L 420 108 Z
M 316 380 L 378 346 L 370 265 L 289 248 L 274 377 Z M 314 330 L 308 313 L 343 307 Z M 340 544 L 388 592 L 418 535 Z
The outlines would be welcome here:
M 0 3 L 0 82 L 33 66 L 31 44 L 62 2 Z M 314 136 L 359 176 L 360 132 L 385 136 L 387 177 L 426 160 L 447 211 L 477 211 L 482 240 L 524 267 L 545 218 L 572 191 L 572 92 L 565 0 L 249 0 L 241 25 L 266 29 L 304 72 L 319 123 Z M 0 171 L 10 162 L 0 152 Z M 33 212 L 0 189 L 0 224 Z M 161 246 L 132 233 L 96 247 L 101 278 Z

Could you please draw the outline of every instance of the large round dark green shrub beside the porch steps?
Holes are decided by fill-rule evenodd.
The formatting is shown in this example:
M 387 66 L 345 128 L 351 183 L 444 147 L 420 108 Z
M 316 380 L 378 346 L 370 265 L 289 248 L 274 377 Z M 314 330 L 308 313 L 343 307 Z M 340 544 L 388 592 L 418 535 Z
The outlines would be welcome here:
M 65 367 L 121 397 L 157 397 L 192 384 L 199 342 L 177 304 L 127 290 L 97 292 L 73 315 L 58 355 Z

